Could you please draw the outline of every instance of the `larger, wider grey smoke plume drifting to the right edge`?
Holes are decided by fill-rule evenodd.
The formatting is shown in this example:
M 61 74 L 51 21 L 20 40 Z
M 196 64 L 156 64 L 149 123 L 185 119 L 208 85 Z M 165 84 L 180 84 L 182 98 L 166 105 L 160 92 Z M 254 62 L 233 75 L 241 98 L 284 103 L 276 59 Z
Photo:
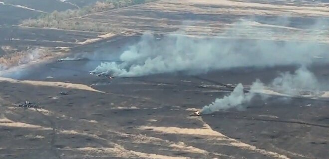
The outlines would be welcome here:
M 203 39 L 173 33 L 157 41 L 153 35 L 146 33 L 137 44 L 130 46 L 121 54 L 122 62 L 104 62 L 91 72 L 118 77 L 177 71 L 190 71 L 197 74 L 233 67 L 307 65 L 315 60 L 312 58 L 314 56 L 328 56 L 326 49 L 316 43 L 257 40 L 267 33 L 271 39 L 274 35 L 283 36 L 285 32 L 269 29 L 271 27 L 260 29 L 255 25 L 244 20 L 216 38 Z M 250 30 L 257 30 L 260 33 L 253 31 L 255 34 L 248 34 Z M 296 40 L 301 33 L 295 32 L 297 33 L 289 36 L 296 36 Z M 237 38 L 243 36 L 247 36 L 249 40 Z

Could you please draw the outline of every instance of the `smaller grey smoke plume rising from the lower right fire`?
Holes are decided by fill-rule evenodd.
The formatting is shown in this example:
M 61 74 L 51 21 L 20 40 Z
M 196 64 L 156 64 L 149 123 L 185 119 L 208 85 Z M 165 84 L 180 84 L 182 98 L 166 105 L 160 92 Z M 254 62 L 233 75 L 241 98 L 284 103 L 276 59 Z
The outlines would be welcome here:
M 280 73 L 268 87 L 257 79 L 251 85 L 248 93 L 244 93 L 242 84 L 238 84 L 229 96 L 217 98 L 213 103 L 204 106 L 200 113 L 210 114 L 230 108 L 245 107 L 256 94 L 261 95 L 262 99 L 266 100 L 268 96 L 262 93 L 269 88 L 287 95 L 299 95 L 301 91 L 318 92 L 319 87 L 320 84 L 315 75 L 305 67 L 301 67 L 293 74 L 289 72 Z

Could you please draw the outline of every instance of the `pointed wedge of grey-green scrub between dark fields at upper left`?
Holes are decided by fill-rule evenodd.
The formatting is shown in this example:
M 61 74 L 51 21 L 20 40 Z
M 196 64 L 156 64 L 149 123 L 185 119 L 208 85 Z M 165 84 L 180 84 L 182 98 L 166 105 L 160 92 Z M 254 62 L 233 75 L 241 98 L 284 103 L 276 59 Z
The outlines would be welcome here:
M 94 5 L 86 6 L 81 9 L 54 11 L 49 14 L 42 14 L 37 19 L 26 19 L 22 21 L 23 26 L 29 27 L 47 27 L 58 29 L 82 30 L 82 31 L 97 31 L 111 32 L 118 31 L 115 24 L 104 24 L 97 22 L 74 21 L 71 18 L 81 17 L 92 13 L 107 11 L 115 8 L 122 8 L 137 4 L 143 4 L 157 0 L 105 0 L 104 2 L 96 2 Z

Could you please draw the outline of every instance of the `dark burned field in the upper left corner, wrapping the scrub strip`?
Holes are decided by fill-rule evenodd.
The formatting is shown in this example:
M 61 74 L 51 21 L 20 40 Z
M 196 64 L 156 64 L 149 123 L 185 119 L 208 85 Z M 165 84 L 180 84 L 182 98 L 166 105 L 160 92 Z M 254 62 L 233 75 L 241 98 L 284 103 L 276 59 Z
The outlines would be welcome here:
M 97 0 L 0 0 L 0 46 L 20 51 L 22 46 L 30 47 L 74 47 L 101 37 L 103 32 L 86 32 L 55 28 L 34 28 L 20 26 L 26 19 L 38 18 L 53 11 L 80 9 Z M 6 51 L 6 50 L 4 50 Z M 12 51 L 8 50 L 10 54 Z

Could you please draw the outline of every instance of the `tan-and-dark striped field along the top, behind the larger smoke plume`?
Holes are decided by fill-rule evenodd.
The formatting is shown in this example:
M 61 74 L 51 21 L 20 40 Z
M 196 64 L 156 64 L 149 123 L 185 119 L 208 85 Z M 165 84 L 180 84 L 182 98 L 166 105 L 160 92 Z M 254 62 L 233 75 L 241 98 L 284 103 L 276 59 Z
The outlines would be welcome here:
M 287 1 L 282 1 L 287 3 Z M 230 37 L 227 30 L 238 31 L 239 36 L 261 39 L 298 39 L 300 36 L 311 37 L 308 29 L 317 23 L 319 18 L 328 22 L 327 3 L 322 6 L 303 1 L 300 7 L 312 9 L 315 12 L 306 14 L 298 6 L 276 4 L 275 1 L 262 4 L 245 0 L 230 2 L 227 0 L 197 1 L 197 0 L 163 0 L 145 5 L 133 6 L 119 10 L 109 10 L 97 14 L 69 19 L 76 22 L 93 22 L 102 25 L 120 26 L 123 31 L 151 31 L 156 33 L 178 33 Z M 276 8 L 280 8 L 280 11 Z M 290 15 L 289 18 L 282 15 Z M 239 20 L 251 20 L 253 28 L 239 28 L 234 25 Z M 234 27 L 234 28 L 232 28 Z M 283 34 L 276 34 L 282 32 Z M 306 38 L 307 39 L 307 38 Z M 323 39 L 317 39 L 324 41 Z

